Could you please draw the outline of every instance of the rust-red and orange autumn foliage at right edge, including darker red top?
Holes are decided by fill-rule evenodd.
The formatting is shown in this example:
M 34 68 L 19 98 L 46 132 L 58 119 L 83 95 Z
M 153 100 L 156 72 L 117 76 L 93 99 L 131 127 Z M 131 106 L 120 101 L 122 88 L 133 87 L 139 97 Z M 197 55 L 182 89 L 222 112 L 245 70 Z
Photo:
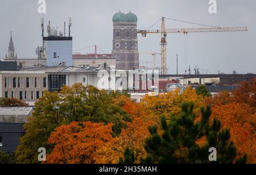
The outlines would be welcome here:
M 237 146 L 237 157 L 247 155 L 247 163 L 256 163 L 256 80 L 242 82 L 234 91 L 223 91 L 207 98 L 212 105 L 214 117 L 221 120 L 224 127 L 230 128 L 230 137 Z

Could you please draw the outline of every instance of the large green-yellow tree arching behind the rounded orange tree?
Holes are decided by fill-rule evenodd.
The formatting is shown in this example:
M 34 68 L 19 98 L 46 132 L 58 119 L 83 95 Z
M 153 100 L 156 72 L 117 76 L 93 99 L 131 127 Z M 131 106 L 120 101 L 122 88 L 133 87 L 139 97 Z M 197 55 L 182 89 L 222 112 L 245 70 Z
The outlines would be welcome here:
M 16 151 L 18 163 L 38 163 L 38 148 L 44 147 L 47 153 L 53 145 L 48 138 L 55 128 L 72 122 L 113 123 L 113 135 L 118 135 L 127 127 L 131 118 L 127 113 L 114 105 L 106 91 L 93 86 L 76 84 L 63 87 L 60 92 L 49 93 L 35 103 L 32 118 L 24 125 L 26 135 L 20 139 Z

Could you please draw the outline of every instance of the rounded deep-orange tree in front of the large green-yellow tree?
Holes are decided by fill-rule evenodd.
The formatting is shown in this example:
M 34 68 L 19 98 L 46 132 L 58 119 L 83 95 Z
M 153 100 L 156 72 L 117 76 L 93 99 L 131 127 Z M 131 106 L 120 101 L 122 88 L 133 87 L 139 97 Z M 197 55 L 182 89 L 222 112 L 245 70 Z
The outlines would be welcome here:
M 93 164 L 97 149 L 112 139 L 113 124 L 73 122 L 55 129 L 49 137 L 54 145 L 49 164 Z

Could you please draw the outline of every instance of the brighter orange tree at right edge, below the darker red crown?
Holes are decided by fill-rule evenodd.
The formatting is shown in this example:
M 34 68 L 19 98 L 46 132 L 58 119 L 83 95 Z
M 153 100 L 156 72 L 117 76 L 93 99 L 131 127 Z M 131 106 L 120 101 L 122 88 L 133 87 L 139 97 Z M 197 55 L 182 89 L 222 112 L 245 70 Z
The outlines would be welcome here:
M 242 103 L 228 103 L 212 108 L 212 119 L 216 116 L 223 127 L 230 129 L 231 138 L 237 146 L 238 157 L 246 153 L 248 163 L 256 163 L 256 132 L 253 127 L 256 115 Z

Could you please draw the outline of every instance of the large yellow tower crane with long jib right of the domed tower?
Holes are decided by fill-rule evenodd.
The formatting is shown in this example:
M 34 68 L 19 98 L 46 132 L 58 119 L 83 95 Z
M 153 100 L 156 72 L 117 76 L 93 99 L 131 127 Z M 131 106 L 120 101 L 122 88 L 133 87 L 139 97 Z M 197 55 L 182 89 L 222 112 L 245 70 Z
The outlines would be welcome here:
M 182 34 L 188 34 L 188 33 L 195 33 L 195 32 L 231 32 L 231 31 L 248 31 L 247 27 L 213 27 L 208 26 L 208 28 L 166 28 L 166 24 L 164 22 L 165 19 L 170 20 L 176 20 L 179 22 L 185 22 L 182 20 L 177 19 L 171 19 L 171 18 L 165 18 L 162 17 L 162 25 L 161 30 L 138 30 L 138 34 L 142 34 L 143 37 L 146 37 L 147 34 L 161 34 L 161 74 L 167 74 L 167 67 L 166 67 L 166 45 L 167 43 L 167 34 L 168 33 L 182 33 Z M 159 19 L 158 22 L 161 20 Z M 157 22 L 156 22 L 157 23 Z M 186 22 L 191 23 L 191 22 Z M 192 24 L 198 24 L 198 23 L 192 23 Z M 201 26 L 207 26 L 204 24 L 199 24 Z M 152 27 L 152 26 L 151 26 Z

